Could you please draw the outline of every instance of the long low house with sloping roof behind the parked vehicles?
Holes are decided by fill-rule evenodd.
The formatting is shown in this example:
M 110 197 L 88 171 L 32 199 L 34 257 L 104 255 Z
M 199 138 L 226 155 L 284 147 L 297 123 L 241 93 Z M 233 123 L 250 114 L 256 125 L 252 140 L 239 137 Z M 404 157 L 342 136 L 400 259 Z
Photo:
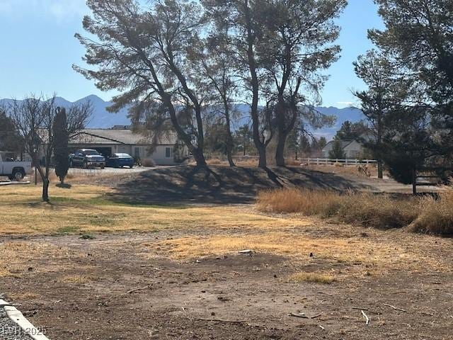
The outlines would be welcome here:
M 42 138 L 45 140 L 45 138 Z M 176 145 L 174 134 L 159 139 L 154 152 L 149 153 L 149 138 L 134 133 L 128 126 L 115 125 L 111 129 L 84 129 L 69 140 L 69 151 L 76 149 L 96 149 L 105 157 L 115 153 L 127 153 L 140 159 L 152 159 L 156 165 L 178 164 L 173 157 Z

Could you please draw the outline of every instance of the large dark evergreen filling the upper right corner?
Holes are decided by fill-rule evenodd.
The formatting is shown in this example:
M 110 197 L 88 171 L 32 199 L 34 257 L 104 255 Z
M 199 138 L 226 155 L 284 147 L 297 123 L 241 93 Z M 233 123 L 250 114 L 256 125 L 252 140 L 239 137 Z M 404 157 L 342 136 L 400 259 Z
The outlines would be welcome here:
M 391 57 L 399 74 L 423 94 L 413 105 L 430 106 L 430 126 L 453 150 L 453 3 L 451 0 L 374 0 L 385 29 L 369 38 Z

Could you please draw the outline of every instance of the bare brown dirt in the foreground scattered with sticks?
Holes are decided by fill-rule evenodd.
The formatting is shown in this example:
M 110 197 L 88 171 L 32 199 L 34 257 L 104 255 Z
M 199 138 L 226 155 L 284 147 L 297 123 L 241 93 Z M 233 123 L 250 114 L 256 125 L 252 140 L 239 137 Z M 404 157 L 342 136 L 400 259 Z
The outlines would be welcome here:
M 9 237 L 10 254 L 35 251 L 15 258 L 0 290 L 50 339 L 452 339 L 451 239 L 316 220 L 291 232 L 321 245 L 332 237 L 372 244 L 365 256 L 353 246 L 326 256 L 328 244 L 316 243 L 285 256 L 253 243 L 252 255 L 211 253 L 216 235 L 256 236 L 240 229 Z M 200 256 L 178 249 L 198 238 L 207 244 Z M 335 280 L 293 281 L 294 273 Z M 307 318 L 289 316 L 300 312 Z

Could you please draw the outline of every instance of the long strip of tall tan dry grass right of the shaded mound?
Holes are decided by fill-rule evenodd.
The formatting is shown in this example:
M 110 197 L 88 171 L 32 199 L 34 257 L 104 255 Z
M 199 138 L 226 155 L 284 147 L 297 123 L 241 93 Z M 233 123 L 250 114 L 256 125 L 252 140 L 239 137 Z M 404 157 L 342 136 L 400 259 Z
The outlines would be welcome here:
M 380 229 L 409 225 L 417 217 L 417 199 L 396 200 L 369 193 L 340 195 L 333 191 L 283 188 L 259 193 L 258 209 L 264 212 L 300 212 L 336 216 L 343 222 Z

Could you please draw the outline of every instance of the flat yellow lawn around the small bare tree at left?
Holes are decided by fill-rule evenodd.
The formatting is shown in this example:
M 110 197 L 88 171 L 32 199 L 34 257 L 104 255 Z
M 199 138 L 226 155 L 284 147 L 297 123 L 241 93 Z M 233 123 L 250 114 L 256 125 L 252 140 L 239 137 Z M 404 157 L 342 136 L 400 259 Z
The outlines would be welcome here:
M 105 198 L 112 189 L 86 185 L 73 185 L 71 189 L 52 187 L 52 204 L 47 204 L 40 202 L 40 190 L 39 186 L 0 189 L 0 195 L 8 198 L 3 203 L 0 235 L 157 232 L 188 227 L 274 229 L 280 226 L 279 218 L 258 215 L 250 208 L 115 203 Z M 304 227 L 309 222 L 294 217 L 287 223 L 292 227 Z

